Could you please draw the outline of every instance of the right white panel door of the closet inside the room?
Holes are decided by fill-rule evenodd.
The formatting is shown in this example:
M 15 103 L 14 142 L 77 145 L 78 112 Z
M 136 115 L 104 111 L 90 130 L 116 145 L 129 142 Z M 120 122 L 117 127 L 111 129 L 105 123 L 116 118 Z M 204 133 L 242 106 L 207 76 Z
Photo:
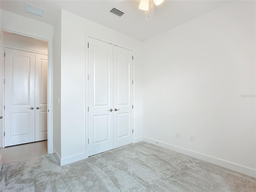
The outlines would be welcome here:
M 114 46 L 114 148 L 133 142 L 132 51 Z

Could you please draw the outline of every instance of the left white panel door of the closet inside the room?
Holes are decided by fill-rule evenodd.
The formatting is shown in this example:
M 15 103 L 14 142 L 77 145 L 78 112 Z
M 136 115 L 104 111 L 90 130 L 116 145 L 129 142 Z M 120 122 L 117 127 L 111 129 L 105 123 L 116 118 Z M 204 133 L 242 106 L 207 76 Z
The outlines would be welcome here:
M 88 38 L 88 42 L 88 156 L 91 156 L 113 149 L 113 46 L 93 38 Z

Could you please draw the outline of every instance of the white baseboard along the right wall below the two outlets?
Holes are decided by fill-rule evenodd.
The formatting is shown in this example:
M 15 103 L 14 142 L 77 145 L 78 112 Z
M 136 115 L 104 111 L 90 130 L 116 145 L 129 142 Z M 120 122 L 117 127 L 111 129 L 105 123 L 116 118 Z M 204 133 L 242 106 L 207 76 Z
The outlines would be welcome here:
M 181 148 L 181 147 L 178 147 L 178 146 L 174 146 L 174 145 L 171 145 L 171 144 L 168 144 L 168 143 L 165 143 L 165 142 L 160 142 L 160 141 L 157 141 L 157 140 L 154 140 L 154 139 L 151 139 L 151 138 L 142 137 L 142 140 L 145 141 L 145 142 L 155 144 L 155 145 L 158 145 L 158 146 L 161 146 L 161 147 L 164 147 L 164 148 L 167 148 L 167 149 L 170 149 L 170 150 L 173 150 L 173 151 L 176 151 L 176 152 L 179 152 L 179 153 L 182 153 L 182 154 L 194 157 L 194 158 L 198 158 L 200 160 L 204 160 L 206 162 L 216 164 L 218 166 L 222 166 L 222 167 L 228 168 L 230 170 L 234 170 L 236 172 L 240 172 L 242 174 L 246 174 L 248 176 L 256 178 L 256 170 L 255 169 L 252 169 L 252 168 L 249 168 L 249 167 L 246 167 L 246 166 L 242 166 L 242 165 L 239 165 L 239 164 L 235 164 L 235 163 L 232 163 L 232 162 L 228 162 L 226 160 L 222 160 L 222 159 L 215 158 L 215 157 L 212 157 L 212 156 L 208 156 L 206 154 L 191 151 L 191 150 Z

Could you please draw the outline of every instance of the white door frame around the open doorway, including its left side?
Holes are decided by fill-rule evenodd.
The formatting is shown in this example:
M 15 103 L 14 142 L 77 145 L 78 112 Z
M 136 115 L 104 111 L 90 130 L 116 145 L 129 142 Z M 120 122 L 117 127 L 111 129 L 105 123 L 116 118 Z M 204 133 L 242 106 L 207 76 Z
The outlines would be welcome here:
M 48 136 L 47 136 L 47 143 L 48 143 L 48 153 L 53 153 L 53 39 L 51 37 L 41 36 L 38 34 L 27 34 L 26 32 L 19 32 L 9 30 L 7 28 L 2 28 L 1 31 L 6 31 L 9 33 L 14 33 L 30 38 L 35 38 L 38 40 L 43 40 L 48 42 Z M 4 47 L 1 44 L 1 74 L 0 74 L 0 82 L 4 82 Z M 3 88 L 3 95 L 0 96 L 2 103 L 4 104 L 4 88 Z M 2 107 L 2 106 L 1 106 Z M 2 112 L 4 114 L 4 108 L 2 107 Z M 4 122 L 3 122 L 4 126 Z M 4 128 L 2 129 L 2 146 L 4 146 Z

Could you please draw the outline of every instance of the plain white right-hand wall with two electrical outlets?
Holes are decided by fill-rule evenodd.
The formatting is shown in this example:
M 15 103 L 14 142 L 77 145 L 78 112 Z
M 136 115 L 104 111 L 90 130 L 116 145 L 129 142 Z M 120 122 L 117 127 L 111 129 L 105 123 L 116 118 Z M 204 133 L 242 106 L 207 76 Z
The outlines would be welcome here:
M 235 1 L 144 42 L 145 140 L 256 177 L 255 26 Z

